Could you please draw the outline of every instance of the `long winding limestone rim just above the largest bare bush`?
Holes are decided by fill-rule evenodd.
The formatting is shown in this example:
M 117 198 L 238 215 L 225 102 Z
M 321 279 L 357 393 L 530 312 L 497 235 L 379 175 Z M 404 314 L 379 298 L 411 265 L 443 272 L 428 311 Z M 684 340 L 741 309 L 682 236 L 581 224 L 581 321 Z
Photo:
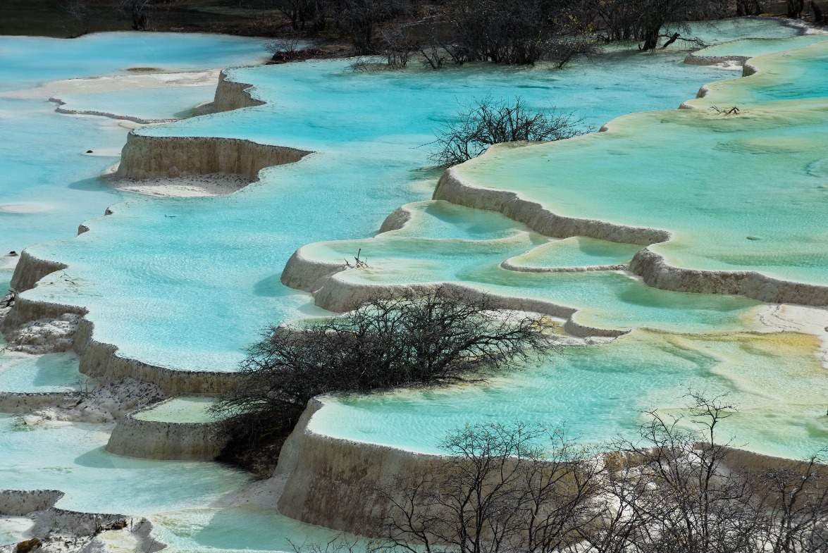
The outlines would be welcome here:
M 482 291 L 473 286 L 465 286 L 458 282 L 368 284 L 345 280 L 339 278 L 339 273 L 347 267 L 343 267 L 339 263 L 322 262 L 307 257 L 302 251 L 303 249 L 296 250 L 287 261 L 282 271 L 282 284 L 314 294 L 315 304 L 322 309 L 344 313 L 357 309 L 360 305 L 364 305 L 378 297 L 399 296 L 405 291 L 429 291 L 437 287 L 443 287 L 470 296 L 486 296 L 498 308 L 531 311 L 566 320 L 564 330 L 577 338 L 617 338 L 629 332 L 623 329 L 599 329 L 581 325 L 573 319 L 573 315 L 577 310 L 572 307 L 533 298 L 501 296 Z M 360 271 L 362 269 L 351 270 Z

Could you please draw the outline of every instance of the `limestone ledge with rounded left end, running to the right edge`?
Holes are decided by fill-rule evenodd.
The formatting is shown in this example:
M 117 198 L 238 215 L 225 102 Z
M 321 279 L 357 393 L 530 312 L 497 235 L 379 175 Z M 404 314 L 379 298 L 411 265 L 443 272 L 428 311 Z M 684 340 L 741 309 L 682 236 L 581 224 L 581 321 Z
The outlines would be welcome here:
M 643 277 L 647 286 L 696 294 L 747 296 L 768 303 L 828 305 L 828 286 L 783 281 L 755 271 L 703 271 L 672 267 L 649 248 L 635 254 L 630 272 Z

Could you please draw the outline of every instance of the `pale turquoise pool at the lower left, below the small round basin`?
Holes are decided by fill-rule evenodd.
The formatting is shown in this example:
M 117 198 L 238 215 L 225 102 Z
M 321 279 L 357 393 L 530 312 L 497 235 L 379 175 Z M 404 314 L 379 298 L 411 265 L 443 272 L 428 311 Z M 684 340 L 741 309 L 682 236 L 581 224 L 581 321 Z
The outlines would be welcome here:
M 248 476 L 214 463 L 108 454 L 111 427 L 44 421 L 17 425 L 0 415 L 0 488 L 60 489 L 58 507 L 144 514 L 204 507 L 238 491 Z

